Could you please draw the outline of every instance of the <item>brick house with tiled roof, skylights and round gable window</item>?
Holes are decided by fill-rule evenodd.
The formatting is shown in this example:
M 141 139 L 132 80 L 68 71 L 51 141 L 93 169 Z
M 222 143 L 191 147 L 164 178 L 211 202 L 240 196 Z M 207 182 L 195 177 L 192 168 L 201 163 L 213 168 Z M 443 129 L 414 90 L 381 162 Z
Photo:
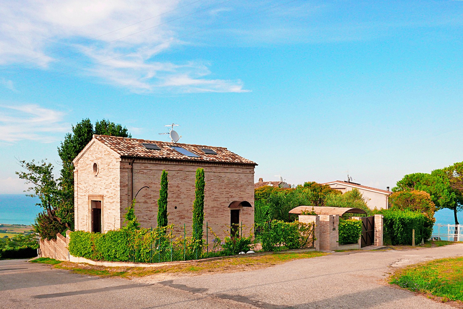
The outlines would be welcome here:
M 142 227 L 156 227 L 162 170 L 169 175 L 168 221 L 176 233 L 191 231 L 196 169 L 204 168 L 206 221 L 215 233 L 227 225 L 254 223 L 256 163 L 223 147 L 94 135 L 73 161 L 75 230 L 118 229 L 137 192 Z

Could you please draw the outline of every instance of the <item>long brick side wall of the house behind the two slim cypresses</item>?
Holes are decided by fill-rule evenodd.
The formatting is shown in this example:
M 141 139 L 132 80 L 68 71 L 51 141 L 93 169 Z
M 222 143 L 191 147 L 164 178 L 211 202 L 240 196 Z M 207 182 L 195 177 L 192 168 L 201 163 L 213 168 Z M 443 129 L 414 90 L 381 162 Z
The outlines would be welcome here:
M 131 201 L 131 161 L 121 162 L 121 223 L 125 208 Z M 195 162 L 153 162 L 143 159 L 133 163 L 133 195 L 144 186 L 137 196 L 135 214 L 142 227 L 156 227 L 157 199 L 162 170 L 168 172 L 169 224 L 177 226 L 175 232 L 183 235 L 183 224 L 187 233 L 191 231 L 196 169 L 204 168 L 206 187 L 204 190 L 204 228 L 206 221 L 215 233 L 223 237 L 223 230 L 230 225 L 230 208 L 233 201 L 248 201 L 252 207 L 240 209 L 240 221 L 251 227 L 254 224 L 254 167 L 236 165 L 198 164 Z M 128 186 L 124 186 L 129 183 Z M 126 189 L 123 189 L 126 188 Z M 176 207 L 176 208 L 175 208 Z M 243 231 L 244 233 L 244 231 Z M 206 236 L 206 231 L 204 231 Z M 210 238 L 211 241 L 212 238 Z

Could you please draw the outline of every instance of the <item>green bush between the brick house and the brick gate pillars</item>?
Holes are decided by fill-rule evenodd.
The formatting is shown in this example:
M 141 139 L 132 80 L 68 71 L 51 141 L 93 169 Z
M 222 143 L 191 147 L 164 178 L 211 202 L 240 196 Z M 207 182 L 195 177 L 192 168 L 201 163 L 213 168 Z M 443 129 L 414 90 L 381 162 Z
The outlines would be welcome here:
M 272 220 L 263 226 L 259 239 L 263 251 L 281 251 L 285 247 L 302 248 L 306 246 L 311 236 L 313 236 L 312 224 Z

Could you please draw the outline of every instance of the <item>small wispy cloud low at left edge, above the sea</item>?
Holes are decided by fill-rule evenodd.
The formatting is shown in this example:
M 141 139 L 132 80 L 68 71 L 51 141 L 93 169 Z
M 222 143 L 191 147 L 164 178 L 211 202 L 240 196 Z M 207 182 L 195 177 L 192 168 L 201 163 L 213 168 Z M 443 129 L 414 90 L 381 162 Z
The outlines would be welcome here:
M 38 105 L 0 106 L 0 141 L 56 141 L 55 134 L 69 130 L 64 113 Z

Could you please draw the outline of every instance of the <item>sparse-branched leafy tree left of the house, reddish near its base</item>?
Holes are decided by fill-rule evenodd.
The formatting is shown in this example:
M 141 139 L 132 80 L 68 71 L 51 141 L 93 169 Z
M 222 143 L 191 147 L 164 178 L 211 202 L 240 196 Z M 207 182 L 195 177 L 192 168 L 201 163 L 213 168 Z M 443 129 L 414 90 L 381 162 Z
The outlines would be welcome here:
M 55 179 L 53 165 L 42 160 L 36 164 L 34 160 L 19 164 L 26 171 L 16 172 L 20 179 L 24 179 L 31 187 L 28 196 L 38 197 L 39 206 L 44 211 L 38 214 L 34 229 L 44 239 L 55 239 L 57 233 L 67 229 L 74 229 L 74 195 L 70 195 L 63 188 L 59 179 Z

